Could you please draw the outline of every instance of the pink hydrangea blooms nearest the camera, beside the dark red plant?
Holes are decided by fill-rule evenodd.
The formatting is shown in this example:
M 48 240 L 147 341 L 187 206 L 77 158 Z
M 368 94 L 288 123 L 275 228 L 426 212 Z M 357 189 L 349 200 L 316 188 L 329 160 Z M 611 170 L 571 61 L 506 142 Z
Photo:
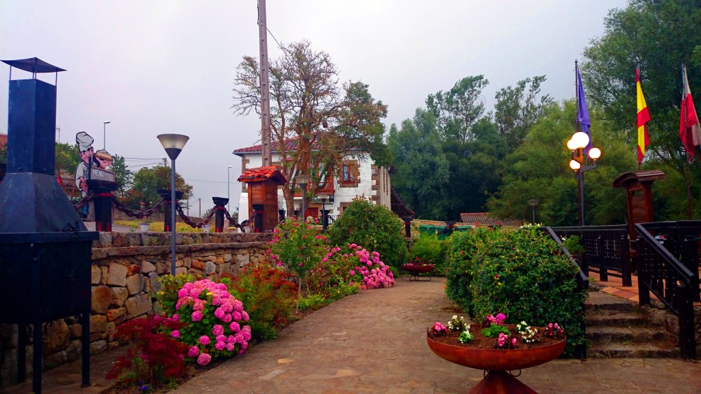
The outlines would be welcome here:
M 188 356 L 196 357 L 199 365 L 209 364 L 212 353 L 215 356 L 229 355 L 227 353 L 235 352 L 238 348 L 238 354 L 241 354 L 248 347 L 251 327 L 240 325 L 241 321 L 248 321 L 248 313 L 243 310 L 243 303 L 229 294 L 224 283 L 214 283 L 207 279 L 185 283 L 178 292 L 175 308 L 179 311 L 191 311 L 189 314 L 191 322 L 185 329 L 171 332 L 171 337 L 181 337 L 182 331 L 187 329 L 197 334 L 205 330 L 206 334 L 198 337 L 197 344 L 189 344 L 191 347 Z M 211 316 L 212 310 L 216 320 Z M 209 324 L 203 328 L 205 314 L 210 324 L 213 324 L 211 329 Z M 172 319 L 185 322 L 188 320 L 179 315 L 173 315 Z

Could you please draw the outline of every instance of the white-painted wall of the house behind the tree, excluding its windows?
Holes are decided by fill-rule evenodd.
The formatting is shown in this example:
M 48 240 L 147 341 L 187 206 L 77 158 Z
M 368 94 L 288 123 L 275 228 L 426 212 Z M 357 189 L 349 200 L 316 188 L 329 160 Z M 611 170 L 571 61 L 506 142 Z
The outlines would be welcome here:
M 241 168 L 243 171 L 251 168 L 261 167 L 263 165 L 263 156 L 260 153 L 240 153 Z M 280 162 L 280 155 L 273 153 L 273 163 Z M 357 157 L 348 157 L 348 160 L 358 160 Z M 381 204 L 390 208 L 390 176 L 387 168 L 376 167 L 372 159 L 367 157 L 365 160 L 358 160 L 359 179 L 358 186 L 348 187 L 339 184 L 339 179 L 334 177 L 334 203 L 329 203 L 327 200 L 325 207 L 329 210 L 329 215 L 339 215 L 343 208 L 353 201 L 357 196 L 365 196 L 365 198 L 373 198 L 375 203 Z M 245 186 L 242 186 L 242 193 L 239 198 L 238 205 L 238 220 L 243 222 L 248 219 L 248 194 L 245 191 Z M 279 209 L 287 209 L 285 199 L 282 197 L 282 191 L 278 198 Z M 311 203 L 311 207 L 322 209 L 321 203 Z M 294 199 L 294 208 L 301 209 L 301 198 Z M 290 216 L 290 213 L 287 213 Z

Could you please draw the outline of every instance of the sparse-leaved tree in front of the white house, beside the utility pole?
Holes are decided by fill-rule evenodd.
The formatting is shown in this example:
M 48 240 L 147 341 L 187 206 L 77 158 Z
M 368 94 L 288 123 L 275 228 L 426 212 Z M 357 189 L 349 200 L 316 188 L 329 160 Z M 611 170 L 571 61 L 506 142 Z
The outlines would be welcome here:
M 271 135 L 288 181 L 283 188 L 287 212 L 292 212 L 295 175 L 311 175 L 313 195 L 331 180 L 327 173 L 340 175 L 342 161 L 349 156 L 360 161 L 365 156 L 358 153 L 369 152 L 373 158 L 388 159 L 381 123 L 387 107 L 374 100 L 365 83 L 339 84 L 331 57 L 313 51 L 308 41 L 281 49 L 283 56 L 269 67 Z M 255 57 L 244 56 L 234 81 L 234 114 L 260 114 L 259 76 Z M 288 140 L 294 141 L 292 149 L 285 144 Z

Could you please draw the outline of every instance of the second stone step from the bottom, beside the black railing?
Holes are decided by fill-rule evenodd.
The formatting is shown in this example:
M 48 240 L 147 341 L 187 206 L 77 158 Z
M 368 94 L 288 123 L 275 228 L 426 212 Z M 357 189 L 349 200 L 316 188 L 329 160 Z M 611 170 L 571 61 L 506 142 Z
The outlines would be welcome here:
M 587 327 L 587 340 L 594 344 L 655 344 L 663 348 L 674 347 L 672 334 L 653 327 Z

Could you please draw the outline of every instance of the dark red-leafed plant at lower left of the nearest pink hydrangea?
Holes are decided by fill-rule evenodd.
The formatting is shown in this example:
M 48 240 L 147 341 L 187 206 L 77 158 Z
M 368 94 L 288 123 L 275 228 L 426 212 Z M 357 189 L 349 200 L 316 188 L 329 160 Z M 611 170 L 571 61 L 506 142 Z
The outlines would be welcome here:
M 180 325 L 170 318 L 151 316 L 118 326 L 116 338 L 130 341 L 133 346 L 117 358 L 107 379 L 118 379 L 125 385 L 157 385 L 184 376 L 188 347 L 163 333 L 177 330 Z

